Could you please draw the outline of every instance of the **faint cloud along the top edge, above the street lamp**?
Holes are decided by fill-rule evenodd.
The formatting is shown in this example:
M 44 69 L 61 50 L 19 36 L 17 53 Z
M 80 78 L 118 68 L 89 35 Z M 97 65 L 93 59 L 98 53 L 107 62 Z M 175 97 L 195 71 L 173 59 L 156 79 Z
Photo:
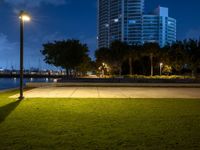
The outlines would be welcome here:
M 39 7 L 41 4 L 65 5 L 69 0 L 4 0 L 4 2 L 14 6 Z

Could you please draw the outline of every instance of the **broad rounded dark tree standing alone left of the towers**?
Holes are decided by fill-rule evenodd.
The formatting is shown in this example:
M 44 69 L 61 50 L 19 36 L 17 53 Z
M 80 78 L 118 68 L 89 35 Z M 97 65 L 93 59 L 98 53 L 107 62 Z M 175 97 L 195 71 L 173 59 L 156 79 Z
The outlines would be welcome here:
M 63 40 L 43 44 L 44 61 L 66 69 L 67 76 L 88 58 L 88 47 L 79 40 Z

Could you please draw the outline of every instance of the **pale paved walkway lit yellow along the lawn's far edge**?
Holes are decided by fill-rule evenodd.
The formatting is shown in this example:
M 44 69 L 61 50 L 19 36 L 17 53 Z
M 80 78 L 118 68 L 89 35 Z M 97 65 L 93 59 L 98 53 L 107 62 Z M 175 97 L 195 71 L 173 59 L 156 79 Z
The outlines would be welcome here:
M 150 87 L 41 87 L 24 93 L 26 98 L 200 98 L 200 88 Z M 17 98 L 14 95 L 11 98 Z

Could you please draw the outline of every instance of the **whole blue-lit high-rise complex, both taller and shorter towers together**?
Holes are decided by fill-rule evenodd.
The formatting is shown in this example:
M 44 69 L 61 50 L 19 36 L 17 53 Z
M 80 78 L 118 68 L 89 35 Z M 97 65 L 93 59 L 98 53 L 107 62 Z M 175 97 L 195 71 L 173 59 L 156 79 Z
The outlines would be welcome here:
M 163 7 L 144 14 L 144 0 L 98 0 L 98 47 L 109 47 L 114 40 L 164 46 L 176 41 L 176 20 Z

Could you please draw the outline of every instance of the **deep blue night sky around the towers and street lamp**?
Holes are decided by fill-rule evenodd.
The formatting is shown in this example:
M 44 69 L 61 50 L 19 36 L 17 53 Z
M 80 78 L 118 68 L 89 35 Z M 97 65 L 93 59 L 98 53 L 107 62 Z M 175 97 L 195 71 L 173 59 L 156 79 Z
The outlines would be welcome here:
M 177 19 L 177 39 L 199 38 L 199 0 L 146 0 L 145 10 L 169 8 Z M 31 14 L 25 24 L 25 68 L 49 68 L 43 62 L 42 43 L 68 38 L 87 43 L 90 56 L 96 49 L 96 0 L 0 0 L 0 68 L 19 66 L 19 10 Z

